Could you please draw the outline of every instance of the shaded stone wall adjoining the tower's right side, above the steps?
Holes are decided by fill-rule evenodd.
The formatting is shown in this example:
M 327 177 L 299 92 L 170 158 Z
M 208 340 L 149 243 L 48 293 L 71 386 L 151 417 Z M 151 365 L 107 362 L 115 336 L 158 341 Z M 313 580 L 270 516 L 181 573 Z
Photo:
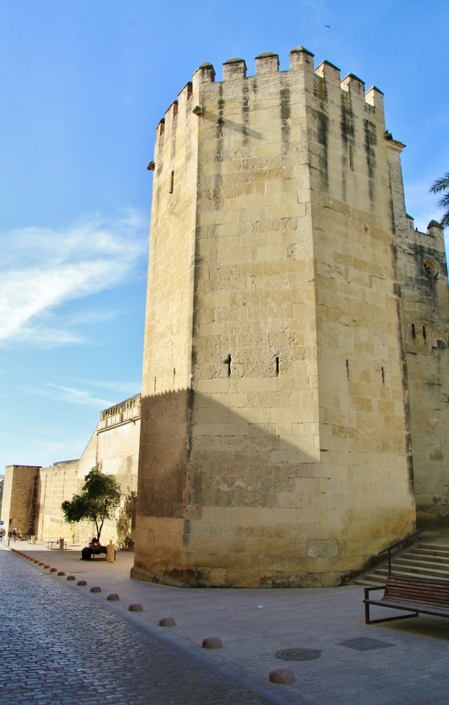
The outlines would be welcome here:
M 449 296 L 443 230 L 408 219 L 398 245 L 410 393 L 414 494 L 422 524 L 449 513 Z

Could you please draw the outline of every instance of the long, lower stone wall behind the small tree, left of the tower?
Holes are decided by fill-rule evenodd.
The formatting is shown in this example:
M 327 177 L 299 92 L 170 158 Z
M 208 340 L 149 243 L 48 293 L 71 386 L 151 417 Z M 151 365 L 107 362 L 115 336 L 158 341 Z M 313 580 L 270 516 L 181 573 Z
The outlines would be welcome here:
M 50 467 L 7 467 L 2 517 L 12 514 L 13 524 L 23 533 L 35 534 L 39 541 L 63 537 L 70 543 L 84 545 L 92 538 L 94 526 L 91 522 L 67 524 L 61 504 L 80 493 L 85 476 L 97 466 L 105 474 L 114 475 L 122 490 L 121 506 L 116 517 L 105 522 L 102 540 L 112 539 L 119 547 L 132 547 L 139 436 L 137 394 L 102 412 L 79 460 L 56 462 Z

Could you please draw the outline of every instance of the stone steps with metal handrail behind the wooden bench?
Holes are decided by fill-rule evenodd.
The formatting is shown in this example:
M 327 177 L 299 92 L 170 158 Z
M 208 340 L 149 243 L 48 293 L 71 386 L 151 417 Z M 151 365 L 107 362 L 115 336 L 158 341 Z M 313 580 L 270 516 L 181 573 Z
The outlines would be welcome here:
M 414 544 L 391 559 L 393 575 L 434 577 L 449 580 L 449 542 L 446 537 L 436 537 L 425 543 Z M 354 585 L 366 587 L 382 585 L 388 575 L 388 560 L 360 575 Z

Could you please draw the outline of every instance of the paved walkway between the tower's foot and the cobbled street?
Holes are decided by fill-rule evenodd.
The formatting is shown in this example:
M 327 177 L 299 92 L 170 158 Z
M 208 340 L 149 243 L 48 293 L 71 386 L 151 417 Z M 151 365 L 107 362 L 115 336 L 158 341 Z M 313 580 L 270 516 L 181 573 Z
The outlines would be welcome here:
M 254 683 L 276 687 L 285 701 L 310 705 L 441 705 L 449 689 L 449 623 L 419 617 L 365 625 L 363 588 L 326 589 L 180 589 L 131 580 L 133 553 L 118 552 L 116 563 L 81 561 L 80 548 L 47 551 L 47 545 L 11 543 L 34 560 L 66 575 L 32 563 L 35 570 L 67 589 L 106 606 L 125 619 L 138 620 L 187 649 L 205 654 L 202 640 L 216 636 L 220 649 L 208 650 L 211 661 L 245 674 Z M 8 550 L 0 544 L 0 551 Z M 0 552 L 1 560 L 1 552 Z M 26 560 L 17 556 L 17 560 Z M 67 576 L 75 576 L 68 581 Z M 87 586 L 77 585 L 85 580 Z M 101 592 L 90 592 L 101 587 Z M 106 600 L 116 593 L 119 601 Z M 130 613 L 130 604 L 143 610 Z M 388 611 L 390 613 L 390 611 Z M 173 627 L 159 627 L 172 617 Z M 342 642 L 353 641 L 350 644 Z M 282 661 L 288 656 L 309 660 Z M 318 656 L 318 658 L 312 658 Z M 289 685 L 269 684 L 274 668 L 295 675 Z

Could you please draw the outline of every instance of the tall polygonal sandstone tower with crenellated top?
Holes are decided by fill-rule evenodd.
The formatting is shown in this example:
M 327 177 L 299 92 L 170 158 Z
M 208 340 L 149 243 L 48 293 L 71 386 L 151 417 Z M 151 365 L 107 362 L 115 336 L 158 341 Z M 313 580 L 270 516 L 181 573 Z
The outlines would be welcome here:
M 269 53 L 254 76 L 231 59 L 214 78 L 204 63 L 180 92 L 149 165 L 131 575 L 336 585 L 414 527 L 407 350 L 417 412 L 434 362 L 422 300 L 437 317 L 441 287 L 447 311 L 443 238 L 405 215 L 403 145 L 375 87 L 328 61 L 314 71 L 303 47 L 289 71 Z M 422 250 L 419 300 L 427 237 L 438 256 Z

